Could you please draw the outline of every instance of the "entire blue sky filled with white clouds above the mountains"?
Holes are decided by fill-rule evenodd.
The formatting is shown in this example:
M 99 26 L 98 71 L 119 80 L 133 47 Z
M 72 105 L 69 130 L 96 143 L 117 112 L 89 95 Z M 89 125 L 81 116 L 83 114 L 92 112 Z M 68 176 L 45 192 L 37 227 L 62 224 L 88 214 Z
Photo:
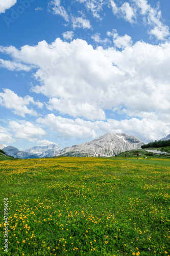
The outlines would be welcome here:
M 169 9 L 169 0 L 0 0 L 0 143 L 167 136 Z

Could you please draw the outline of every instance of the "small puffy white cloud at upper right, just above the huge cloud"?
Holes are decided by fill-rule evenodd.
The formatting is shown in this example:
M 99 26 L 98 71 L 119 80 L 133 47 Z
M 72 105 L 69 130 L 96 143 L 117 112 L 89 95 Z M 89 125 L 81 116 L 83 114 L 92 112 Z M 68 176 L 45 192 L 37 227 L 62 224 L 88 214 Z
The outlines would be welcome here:
M 129 35 L 119 36 L 117 31 L 113 29 L 107 32 L 108 36 L 113 36 L 114 45 L 118 48 L 126 48 L 132 46 L 132 38 Z

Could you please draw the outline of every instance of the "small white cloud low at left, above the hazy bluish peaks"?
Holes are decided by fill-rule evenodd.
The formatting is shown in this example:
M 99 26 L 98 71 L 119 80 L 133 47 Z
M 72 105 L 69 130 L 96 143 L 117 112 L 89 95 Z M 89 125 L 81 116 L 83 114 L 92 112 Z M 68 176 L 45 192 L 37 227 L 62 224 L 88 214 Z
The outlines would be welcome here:
M 45 131 L 31 122 L 21 121 L 20 123 L 16 121 L 10 121 L 9 126 L 11 130 L 15 133 L 15 138 L 26 139 L 28 141 L 36 141 L 41 136 L 46 135 Z

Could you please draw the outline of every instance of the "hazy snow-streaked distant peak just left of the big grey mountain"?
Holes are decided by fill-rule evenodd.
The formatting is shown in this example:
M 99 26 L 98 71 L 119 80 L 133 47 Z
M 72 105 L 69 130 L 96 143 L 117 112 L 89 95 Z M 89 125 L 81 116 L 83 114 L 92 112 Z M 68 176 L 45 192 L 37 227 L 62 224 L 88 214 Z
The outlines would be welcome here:
M 39 157 L 54 157 L 61 152 L 61 148 L 57 144 L 49 144 L 29 147 L 25 152 L 36 154 Z

